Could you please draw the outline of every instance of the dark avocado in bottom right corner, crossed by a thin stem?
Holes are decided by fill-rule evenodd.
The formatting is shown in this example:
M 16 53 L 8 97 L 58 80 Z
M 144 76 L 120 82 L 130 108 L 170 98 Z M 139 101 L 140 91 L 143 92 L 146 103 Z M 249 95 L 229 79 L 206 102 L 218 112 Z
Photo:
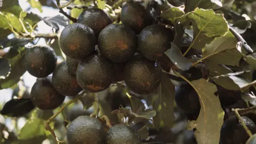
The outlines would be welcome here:
M 252 134 L 256 133 L 254 122 L 246 116 L 242 116 L 242 119 Z M 248 139 L 249 135 L 236 116 L 230 117 L 223 123 L 220 130 L 220 144 L 244 144 Z

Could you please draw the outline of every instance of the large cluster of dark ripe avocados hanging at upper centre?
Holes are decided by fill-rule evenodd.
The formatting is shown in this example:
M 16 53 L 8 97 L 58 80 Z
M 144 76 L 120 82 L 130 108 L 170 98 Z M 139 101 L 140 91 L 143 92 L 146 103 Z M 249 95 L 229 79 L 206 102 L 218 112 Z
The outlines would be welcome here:
M 66 61 L 57 65 L 50 46 L 31 47 L 25 55 L 25 65 L 38 78 L 31 90 L 35 105 L 53 109 L 65 96 L 83 89 L 100 92 L 120 81 L 135 93 L 153 92 L 162 72 L 157 60 L 173 41 L 172 30 L 156 24 L 154 17 L 154 11 L 132 1 L 122 7 L 122 23 L 113 23 L 105 11 L 89 7 L 76 23 L 61 31 L 59 44 Z M 53 106 L 55 99 L 58 102 Z

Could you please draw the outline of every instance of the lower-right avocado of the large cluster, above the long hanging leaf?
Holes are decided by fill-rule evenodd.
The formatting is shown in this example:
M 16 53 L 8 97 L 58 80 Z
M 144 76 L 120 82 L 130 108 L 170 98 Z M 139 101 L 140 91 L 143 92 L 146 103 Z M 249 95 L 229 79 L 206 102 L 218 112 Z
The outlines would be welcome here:
M 160 84 L 161 67 L 158 63 L 134 56 L 124 68 L 124 82 L 133 92 L 149 94 Z

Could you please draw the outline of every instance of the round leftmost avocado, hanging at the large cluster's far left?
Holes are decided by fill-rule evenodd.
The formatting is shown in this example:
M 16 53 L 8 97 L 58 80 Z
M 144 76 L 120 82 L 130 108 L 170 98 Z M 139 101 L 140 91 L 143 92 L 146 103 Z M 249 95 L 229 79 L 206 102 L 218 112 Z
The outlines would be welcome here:
M 34 45 L 25 54 L 25 66 L 29 74 L 43 78 L 50 75 L 57 65 L 57 55 L 52 47 Z

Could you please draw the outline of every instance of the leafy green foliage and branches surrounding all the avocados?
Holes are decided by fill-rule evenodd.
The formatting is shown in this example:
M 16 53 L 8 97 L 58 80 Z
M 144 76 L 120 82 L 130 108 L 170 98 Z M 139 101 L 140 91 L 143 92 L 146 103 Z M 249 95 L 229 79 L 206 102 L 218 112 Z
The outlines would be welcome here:
M 124 81 L 113 82 L 98 93 L 83 91 L 74 99 L 66 97 L 66 101 L 70 101 L 65 101 L 60 108 L 35 108 L 29 97 L 31 87 L 25 86 L 26 79 L 22 77 L 27 71 L 24 55 L 30 46 L 44 40 L 44 44 L 53 47 L 58 61 L 66 60 L 59 45 L 63 27 L 75 23 L 87 7 L 98 7 L 108 13 L 113 23 L 122 23 L 125 2 L 29 0 L 26 2 L 29 9 L 23 10 L 18 0 L 0 1 L 0 93 L 4 89 L 13 90 L 13 97 L 1 103 L 0 114 L 6 121 L 1 121 L 0 125 L 3 143 L 56 143 L 55 137 L 66 140 L 66 126 L 71 119 L 70 111 L 74 109 L 77 116 L 100 116 L 109 127 L 116 123 L 129 125 L 139 133 L 143 143 L 219 143 L 223 122 L 237 116 L 230 108 L 239 108 L 241 115 L 255 110 L 255 107 L 248 108 L 255 106 L 256 100 L 256 55 L 246 48 L 248 44 L 256 50 L 256 13 L 253 11 L 256 3 L 249 0 L 143 1 L 145 9 L 157 5 L 151 12 L 154 24 L 163 25 L 174 33 L 170 49 L 163 53 L 166 58 L 157 61 L 162 67 L 161 83 L 153 93 L 137 94 Z M 45 7 L 59 13 L 42 17 L 47 13 Z M 42 33 L 46 27 L 51 27 L 50 33 Z M 174 102 L 175 90 L 185 83 L 198 95 L 201 109 L 197 114 L 184 113 Z M 235 98 L 220 98 L 219 87 L 240 92 L 241 97 L 226 106 L 221 99 L 233 101 Z M 237 104 L 238 101 L 242 101 L 243 106 Z M 10 119 L 18 125 L 21 118 L 26 119 L 22 127 L 6 127 Z

